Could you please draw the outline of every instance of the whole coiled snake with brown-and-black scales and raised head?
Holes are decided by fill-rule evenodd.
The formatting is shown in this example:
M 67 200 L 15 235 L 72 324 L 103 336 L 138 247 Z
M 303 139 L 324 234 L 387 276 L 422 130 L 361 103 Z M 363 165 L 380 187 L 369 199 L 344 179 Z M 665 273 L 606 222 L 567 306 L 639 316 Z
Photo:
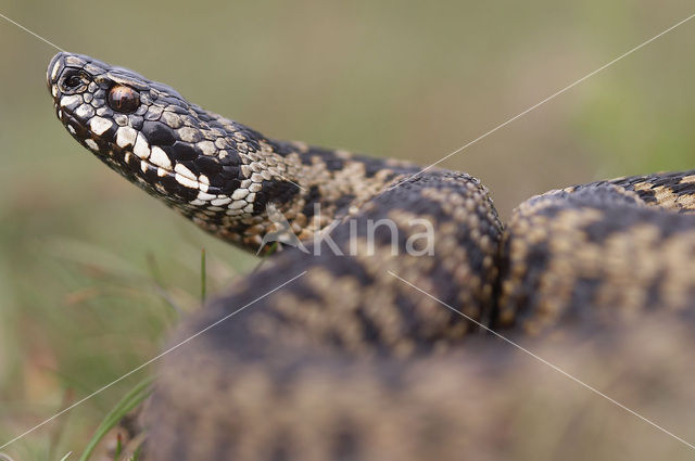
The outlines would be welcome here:
M 81 54 L 47 80 L 97 158 L 271 254 L 172 333 L 148 460 L 483 459 L 504 432 L 483 396 L 514 367 L 491 332 L 543 344 L 654 312 L 693 331 L 695 170 L 553 190 L 503 223 L 465 172 L 275 140 Z

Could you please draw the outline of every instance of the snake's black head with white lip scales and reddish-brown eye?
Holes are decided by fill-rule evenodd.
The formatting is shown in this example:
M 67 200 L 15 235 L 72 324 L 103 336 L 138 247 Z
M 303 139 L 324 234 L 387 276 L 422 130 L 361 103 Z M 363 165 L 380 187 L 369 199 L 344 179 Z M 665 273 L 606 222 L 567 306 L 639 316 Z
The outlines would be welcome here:
M 267 148 L 260 133 L 166 85 L 81 54 L 56 54 L 47 78 L 73 138 L 169 206 L 208 225 L 264 208 L 264 185 L 276 178 L 263 163 L 253 165 Z

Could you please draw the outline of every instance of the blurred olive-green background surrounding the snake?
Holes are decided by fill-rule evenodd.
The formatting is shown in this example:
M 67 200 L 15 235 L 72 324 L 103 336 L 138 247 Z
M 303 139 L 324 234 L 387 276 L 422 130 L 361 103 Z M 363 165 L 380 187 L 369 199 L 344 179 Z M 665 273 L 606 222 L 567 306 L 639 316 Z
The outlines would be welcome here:
M 692 14 L 682 0 L 0 1 L 66 50 L 134 68 L 267 136 L 432 163 Z M 695 22 L 443 166 L 504 217 L 532 194 L 695 164 Z M 0 21 L 0 445 L 159 350 L 253 268 L 110 171 L 55 119 L 55 50 Z M 166 299 L 168 299 L 168 302 Z M 146 370 L 7 449 L 79 451 Z

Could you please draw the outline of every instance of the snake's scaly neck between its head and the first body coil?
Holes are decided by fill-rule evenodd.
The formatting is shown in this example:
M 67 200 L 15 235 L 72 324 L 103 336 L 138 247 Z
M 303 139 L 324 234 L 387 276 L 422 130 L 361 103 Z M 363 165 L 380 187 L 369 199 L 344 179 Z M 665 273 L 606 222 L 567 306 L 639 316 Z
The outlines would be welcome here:
M 404 162 L 274 140 L 216 117 L 227 133 L 217 142 L 227 149 L 214 156 L 223 165 L 222 179 L 213 175 L 219 192 L 214 199 L 210 192 L 192 201 L 162 199 L 200 228 L 249 251 L 258 251 L 271 232 L 311 239 L 396 178 L 417 171 Z

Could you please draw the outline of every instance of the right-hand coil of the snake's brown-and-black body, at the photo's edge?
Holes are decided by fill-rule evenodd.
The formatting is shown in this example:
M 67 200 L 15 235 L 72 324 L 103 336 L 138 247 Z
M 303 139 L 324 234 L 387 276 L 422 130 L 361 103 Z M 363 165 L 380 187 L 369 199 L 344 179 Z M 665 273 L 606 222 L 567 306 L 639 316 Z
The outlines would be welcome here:
M 695 183 L 681 181 L 690 177 L 621 178 L 519 206 L 503 243 L 498 325 L 538 334 L 558 322 L 624 323 L 654 309 L 692 315 Z

